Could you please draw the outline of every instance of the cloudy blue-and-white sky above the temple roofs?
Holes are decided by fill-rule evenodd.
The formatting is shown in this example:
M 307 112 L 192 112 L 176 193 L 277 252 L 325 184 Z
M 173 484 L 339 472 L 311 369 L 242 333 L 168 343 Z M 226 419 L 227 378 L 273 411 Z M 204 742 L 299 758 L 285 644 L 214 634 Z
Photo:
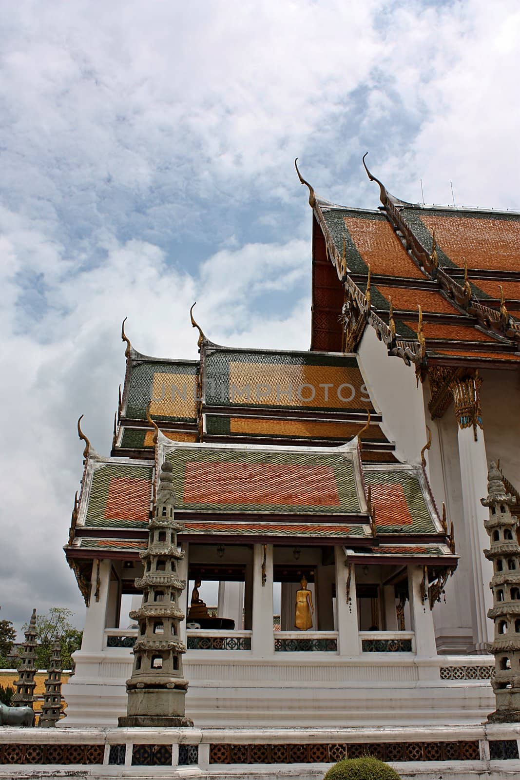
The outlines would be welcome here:
M 76 420 L 107 453 L 125 368 L 306 349 L 310 208 L 520 208 L 516 0 L 2 3 L 0 604 L 84 608 Z M 515 171 L 517 172 L 515 174 Z

